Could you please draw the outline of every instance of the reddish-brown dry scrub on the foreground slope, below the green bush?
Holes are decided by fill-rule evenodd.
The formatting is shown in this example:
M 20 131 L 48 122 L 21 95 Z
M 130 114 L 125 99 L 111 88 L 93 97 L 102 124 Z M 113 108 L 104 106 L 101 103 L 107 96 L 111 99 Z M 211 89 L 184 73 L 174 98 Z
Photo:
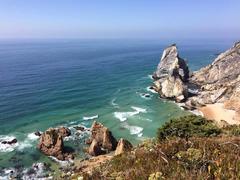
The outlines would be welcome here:
M 231 142 L 231 143 L 226 143 Z M 138 146 L 115 156 L 86 179 L 239 179 L 239 137 L 192 137 Z

